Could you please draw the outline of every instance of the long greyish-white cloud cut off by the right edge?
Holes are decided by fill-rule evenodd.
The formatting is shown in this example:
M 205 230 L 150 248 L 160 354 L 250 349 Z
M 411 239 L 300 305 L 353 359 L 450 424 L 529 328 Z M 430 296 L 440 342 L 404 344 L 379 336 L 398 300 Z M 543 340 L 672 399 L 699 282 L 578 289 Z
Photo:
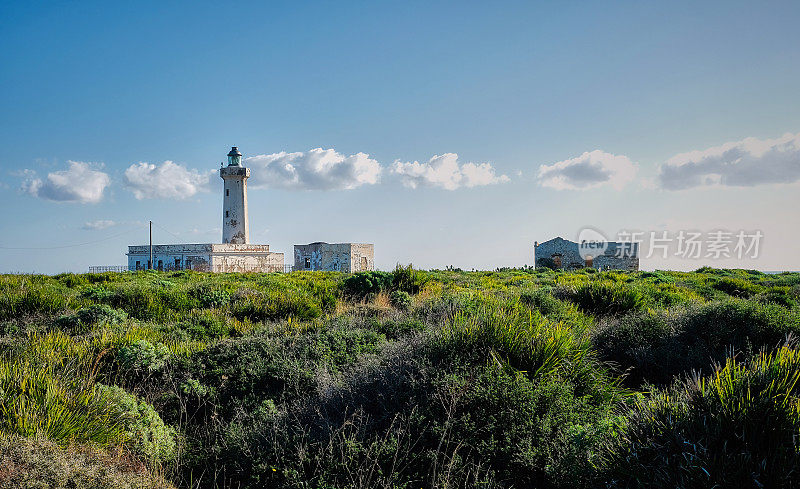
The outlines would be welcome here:
M 661 165 L 658 181 L 668 190 L 800 181 L 800 133 L 776 139 L 746 138 L 678 154 Z

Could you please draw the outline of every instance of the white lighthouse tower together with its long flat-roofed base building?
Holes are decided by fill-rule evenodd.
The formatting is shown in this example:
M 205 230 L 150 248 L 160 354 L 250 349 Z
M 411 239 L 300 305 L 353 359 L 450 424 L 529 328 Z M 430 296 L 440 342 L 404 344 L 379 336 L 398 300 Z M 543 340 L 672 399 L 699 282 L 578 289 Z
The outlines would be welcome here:
M 138 245 L 128 247 L 128 270 L 200 270 L 210 272 L 283 271 L 283 253 L 269 245 L 250 244 L 247 220 L 247 178 L 242 153 L 235 146 L 228 153 L 228 166 L 220 168 L 224 181 L 222 197 L 222 243 Z

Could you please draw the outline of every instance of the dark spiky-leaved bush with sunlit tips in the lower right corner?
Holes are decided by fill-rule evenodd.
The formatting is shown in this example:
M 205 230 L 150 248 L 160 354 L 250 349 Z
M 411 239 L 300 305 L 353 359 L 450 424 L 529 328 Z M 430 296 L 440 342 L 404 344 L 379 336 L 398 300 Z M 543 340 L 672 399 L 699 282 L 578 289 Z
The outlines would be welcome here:
M 800 484 L 800 352 L 750 364 L 640 400 L 608 460 L 618 487 L 795 487 Z

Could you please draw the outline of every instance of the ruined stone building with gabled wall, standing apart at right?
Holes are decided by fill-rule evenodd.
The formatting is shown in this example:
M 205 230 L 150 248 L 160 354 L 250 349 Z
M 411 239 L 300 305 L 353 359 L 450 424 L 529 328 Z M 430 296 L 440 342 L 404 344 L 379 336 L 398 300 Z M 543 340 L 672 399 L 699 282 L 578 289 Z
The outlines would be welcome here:
M 573 270 L 592 267 L 598 270 L 638 270 L 639 243 L 606 241 L 598 253 L 564 238 L 553 238 L 543 243 L 534 243 L 533 261 L 536 268 L 560 268 Z

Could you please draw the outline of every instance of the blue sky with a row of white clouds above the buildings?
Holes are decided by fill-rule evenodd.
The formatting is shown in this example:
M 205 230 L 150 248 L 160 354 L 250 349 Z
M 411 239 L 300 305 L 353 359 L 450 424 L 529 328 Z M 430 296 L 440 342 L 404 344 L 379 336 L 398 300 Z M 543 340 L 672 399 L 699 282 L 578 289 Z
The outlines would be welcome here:
M 287 254 L 492 269 L 587 226 L 760 230 L 757 259 L 642 267 L 800 269 L 798 21 L 797 2 L 4 2 L 0 271 L 125 263 L 149 219 L 157 242 L 219 241 L 232 145 L 251 241 Z

